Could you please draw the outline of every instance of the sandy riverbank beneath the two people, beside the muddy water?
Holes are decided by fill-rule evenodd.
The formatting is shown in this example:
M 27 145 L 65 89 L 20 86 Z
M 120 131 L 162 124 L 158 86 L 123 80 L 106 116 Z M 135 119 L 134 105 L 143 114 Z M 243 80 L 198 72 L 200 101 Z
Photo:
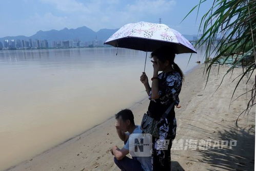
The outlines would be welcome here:
M 230 98 L 237 81 L 231 83 L 228 74 L 222 86 L 214 93 L 220 84 L 227 67 L 212 69 L 212 74 L 206 89 L 202 77 L 204 65 L 199 65 L 185 76 L 180 100 L 182 108 L 175 109 L 178 124 L 176 140 L 211 139 L 237 140 L 237 146 L 229 148 L 208 148 L 208 150 L 172 150 L 171 160 L 173 170 L 253 170 L 254 137 L 255 137 L 255 107 L 249 115 L 239 120 L 238 132 L 235 119 L 246 107 L 246 96 L 231 103 Z M 232 78 L 242 73 L 235 69 Z M 248 88 L 253 84 L 253 77 L 248 82 Z M 245 92 L 245 81 L 236 92 L 235 98 Z M 146 92 L 145 92 L 146 94 Z M 250 95 L 247 95 L 249 98 Z M 130 109 L 135 115 L 135 123 L 140 124 L 143 114 L 147 111 L 148 98 L 137 102 Z M 114 115 L 114 114 L 113 114 Z M 122 146 L 122 141 L 116 135 L 115 119 L 97 125 L 89 131 L 66 141 L 47 152 L 24 161 L 8 170 L 119 170 L 109 149 L 112 145 Z

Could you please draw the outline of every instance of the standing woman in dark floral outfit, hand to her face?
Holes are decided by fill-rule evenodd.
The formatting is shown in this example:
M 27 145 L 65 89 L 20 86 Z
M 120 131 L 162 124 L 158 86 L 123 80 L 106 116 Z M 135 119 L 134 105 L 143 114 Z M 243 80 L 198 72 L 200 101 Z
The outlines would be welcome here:
M 148 77 L 143 72 L 141 82 L 146 88 L 150 103 L 147 113 L 155 120 L 160 120 L 159 137 L 153 137 L 153 153 L 151 164 L 153 170 L 170 170 L 170 148 L 176 135 L 176 119 L 174 105 L 166 118 L 161 118 L 171 103 L 178 108 L 179 94 L 181 92 L 184 75 L 174 62 L 175 54 L 170 48 L 162 47 L 151 53 L 153 63 L 152 86 L 150 88 Z M 163 71 L 159 74 L 159 71 Z M 161 145 L 161 148 L 160 146 Z M 164 145 L 164 148 L 163 148 Z

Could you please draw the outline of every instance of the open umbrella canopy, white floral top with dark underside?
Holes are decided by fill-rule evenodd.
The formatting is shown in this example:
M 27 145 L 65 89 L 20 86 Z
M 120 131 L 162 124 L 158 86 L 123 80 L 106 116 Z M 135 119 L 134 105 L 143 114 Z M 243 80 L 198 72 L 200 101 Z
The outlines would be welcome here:
M 148 22 L 127 24 L 110 36 L 104 44 L 145 52 L 167 46 L 175 54 L 196 53 L 194 47 L 180 32 L 164 24 Z

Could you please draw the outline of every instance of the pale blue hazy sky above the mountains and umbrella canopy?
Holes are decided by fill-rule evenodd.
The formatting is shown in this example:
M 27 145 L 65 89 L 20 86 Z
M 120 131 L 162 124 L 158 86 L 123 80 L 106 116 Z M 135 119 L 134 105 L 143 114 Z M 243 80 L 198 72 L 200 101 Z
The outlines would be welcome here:
M 139 21 L 162 23 L 182 34 L 197 34 L 208 0 L 181 23 L 200 0 L 8 0 L 0 5 L 0 37 L 31 36 L 39 30 L 87 26 L 94 31 L 116 29 Z M 181 23 L 181 24 L 180 24 Z

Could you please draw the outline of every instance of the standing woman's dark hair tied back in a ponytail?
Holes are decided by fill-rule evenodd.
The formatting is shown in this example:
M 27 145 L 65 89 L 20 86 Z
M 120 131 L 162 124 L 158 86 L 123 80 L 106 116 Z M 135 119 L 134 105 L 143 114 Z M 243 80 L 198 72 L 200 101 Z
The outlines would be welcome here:
M 174 71 L 178 72 L 181 75 L 182 80 L 184 79 L 184 74 L 180 67 L 174 62 L 175 53 L 172 52 L 171 48 L 161 47 L 159 49 L 154 50 L 151 53 L 151 57 L 156 56 L 161 62 L 165 62 L 168 60 Z

